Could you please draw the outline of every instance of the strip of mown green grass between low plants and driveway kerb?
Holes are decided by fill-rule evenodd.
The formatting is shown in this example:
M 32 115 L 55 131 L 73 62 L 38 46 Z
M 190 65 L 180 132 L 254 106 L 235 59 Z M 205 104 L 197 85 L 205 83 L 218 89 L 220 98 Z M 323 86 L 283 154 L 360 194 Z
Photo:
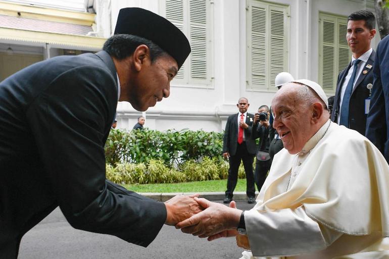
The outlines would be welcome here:
M 225 191 L 227 180 L 212 180 L 186 183 L 124 184 L 134 192 L 219 192 Z M 235 191 L 246 191 L 246 179 L 238 179 Z

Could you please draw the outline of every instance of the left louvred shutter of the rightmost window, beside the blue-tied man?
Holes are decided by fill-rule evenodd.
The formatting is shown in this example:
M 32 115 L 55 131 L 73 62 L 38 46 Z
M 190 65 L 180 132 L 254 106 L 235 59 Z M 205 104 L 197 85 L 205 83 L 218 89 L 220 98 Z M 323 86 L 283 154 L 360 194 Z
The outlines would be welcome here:
M 322 21 L 322 87 L 324 90 L 333 90 L 334 83 L 334 56 L 335 56 L 335 22 L 327 19 Z

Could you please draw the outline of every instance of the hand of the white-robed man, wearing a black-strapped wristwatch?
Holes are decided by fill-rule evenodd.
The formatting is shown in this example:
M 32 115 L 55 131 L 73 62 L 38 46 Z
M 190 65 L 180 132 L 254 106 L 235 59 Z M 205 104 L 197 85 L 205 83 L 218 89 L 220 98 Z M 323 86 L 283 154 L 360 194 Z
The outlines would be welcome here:
M 225 230 L 236 229 L 239 224 L 241 210 L 211 202 L 204 198 L 194 198 L 205 208 L 201 213 L 190 217 L 176 225 L 182 232 L 199 237 L 209 237 Z

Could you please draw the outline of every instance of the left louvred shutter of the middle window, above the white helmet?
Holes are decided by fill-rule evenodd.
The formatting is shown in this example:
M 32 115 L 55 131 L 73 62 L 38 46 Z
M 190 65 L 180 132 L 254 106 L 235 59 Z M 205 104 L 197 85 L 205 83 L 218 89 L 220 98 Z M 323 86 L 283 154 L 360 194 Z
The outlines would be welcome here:
M 266 9 L 252 7 L 251 84 L 266 86 Z

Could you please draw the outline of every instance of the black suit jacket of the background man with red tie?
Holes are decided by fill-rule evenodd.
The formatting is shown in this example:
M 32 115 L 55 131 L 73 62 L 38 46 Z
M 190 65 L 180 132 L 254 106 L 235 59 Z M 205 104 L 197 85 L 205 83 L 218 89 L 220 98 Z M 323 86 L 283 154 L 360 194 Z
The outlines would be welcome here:
M 249 128 L 245 129 L 245 140 L 247 151 L 250 154 L 255 154 L 257 152 L 257 147 L 255 140 L 252 139 L 252 126 L 253 126 L 254 115 L 247 113 L 246 124 L 249 125 Z M 223 153 L 229 152 L 230 156 L 234 156 L 236 153 L 236 147 L 238 141 L 238 114 L 233 114 L 228 117 L 227 123 L 225 126 L 224 136 L 223 136 Z

